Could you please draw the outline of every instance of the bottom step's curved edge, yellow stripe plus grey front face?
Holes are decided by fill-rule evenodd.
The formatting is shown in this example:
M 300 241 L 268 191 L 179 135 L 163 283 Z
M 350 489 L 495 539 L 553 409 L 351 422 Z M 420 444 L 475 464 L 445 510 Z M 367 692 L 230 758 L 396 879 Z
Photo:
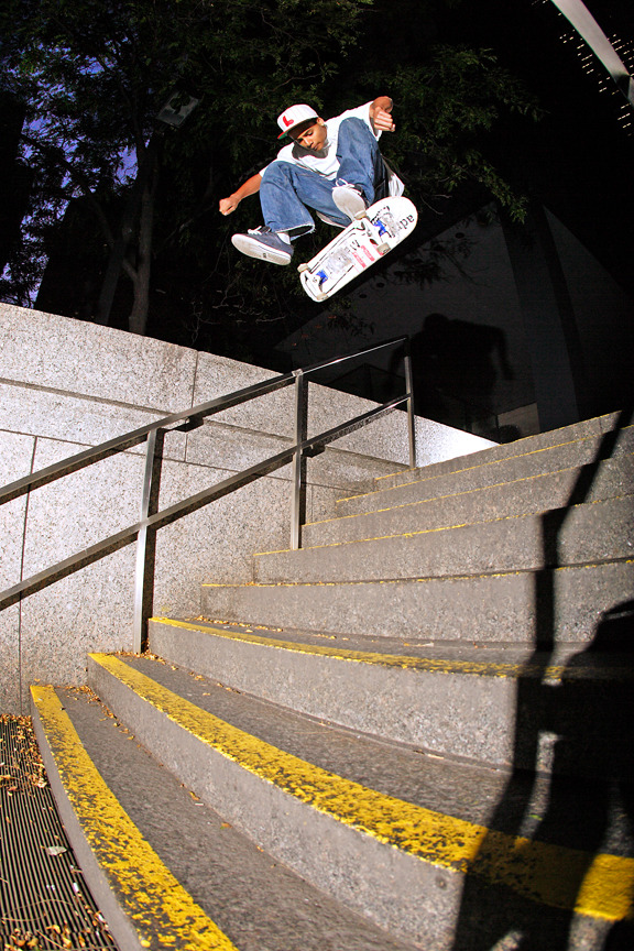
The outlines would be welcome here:
M 55 689 L 32 687 L 31 707 L 66 832 L 118 944 L 125 951 L 237 951 L 163 864 L 111 792 Z

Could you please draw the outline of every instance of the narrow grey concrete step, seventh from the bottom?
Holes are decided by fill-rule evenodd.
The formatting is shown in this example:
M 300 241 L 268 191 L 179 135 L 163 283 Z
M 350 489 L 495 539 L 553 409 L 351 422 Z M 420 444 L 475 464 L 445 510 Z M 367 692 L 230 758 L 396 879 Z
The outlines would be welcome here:
M 512 442 L 505 448 L 516 446 L 517 444 Z M 527 451 L 515 449 L 512 455 L 503 458 L 495 455 L 499 448 L 449 460 L 449 463 L 438 463 L 444 467 L 440 471 L 435 466 L 415 470 L 415 478 L 409 479 L 405 484 L 341 499 L 337 503 L 337 514 L 354 515 L 359 512 L 372 512 L 376 509 L 468 492 L 472 489 L 483 489 L 501 482 L 513 482 L 517 479 L 528 479 L 532 476 L 543 476 L 581 466 L 590 467 L 586 470 L 586 478 L 588 478 L 592 474 L 591 467 L 599 466 L 603 459 L 616 459 L 634 452 L 634 426 L 604 436 L 588 436 L 583 439 L 547 445 L 544 448 L 528 446 L 525 447 Z M 382 487 L 383 481 L 380 480 L 375 484 Z

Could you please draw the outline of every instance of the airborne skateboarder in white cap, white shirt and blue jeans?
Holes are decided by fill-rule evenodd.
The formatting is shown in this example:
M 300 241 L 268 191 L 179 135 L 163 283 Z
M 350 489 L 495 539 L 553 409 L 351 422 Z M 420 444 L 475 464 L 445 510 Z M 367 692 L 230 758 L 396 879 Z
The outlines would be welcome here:
M 379 151 L 381 133 L 395 129 L 392 108 L 392 99 L 380 96 L 327 121 L 304 103 L 285 109 L 277 138 L 288 135 L 292 142 L 220 200 L 220 212 L 230 215 L 243 198 L 260 193 L 264 227 L 233 234 L 233 245 L 250 258 L 289 264 L 291 242 L 315 228 L 308 208 L 345 228 L 373 201 L 402 195 L 403 183 Z

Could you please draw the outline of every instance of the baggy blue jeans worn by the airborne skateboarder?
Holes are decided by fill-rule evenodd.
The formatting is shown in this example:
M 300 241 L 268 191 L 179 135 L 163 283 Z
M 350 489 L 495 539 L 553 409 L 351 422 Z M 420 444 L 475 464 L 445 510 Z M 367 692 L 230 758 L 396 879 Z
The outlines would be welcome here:
M 339 171 L 337 178 L 325 178 L 309 168 L 289 162 L 272 162 L 262 176 L 260 204 L 264 223 L 272 231 L 288 231 L 298 238 L 315 229 L 308 211 L 326 215 L 338 225 L 346 226 L 350 219 L 332 201 L 336 185 L 356 185 L 371 205 L 382 198 L 385 167 L 379 143 L 361 119 L 345 119 L 339 127 L 337 141 Z

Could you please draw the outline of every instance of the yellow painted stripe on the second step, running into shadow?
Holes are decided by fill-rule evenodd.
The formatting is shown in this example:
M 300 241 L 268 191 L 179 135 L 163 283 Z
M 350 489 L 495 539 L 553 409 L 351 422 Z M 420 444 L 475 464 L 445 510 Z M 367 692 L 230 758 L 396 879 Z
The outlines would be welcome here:
M 112 655 L 89 656 L 198 741 L 379 842 L 544 905 L 610 921 L 632 917 L 634 859 L 507 835 L 386 796 L 226 723 Z

